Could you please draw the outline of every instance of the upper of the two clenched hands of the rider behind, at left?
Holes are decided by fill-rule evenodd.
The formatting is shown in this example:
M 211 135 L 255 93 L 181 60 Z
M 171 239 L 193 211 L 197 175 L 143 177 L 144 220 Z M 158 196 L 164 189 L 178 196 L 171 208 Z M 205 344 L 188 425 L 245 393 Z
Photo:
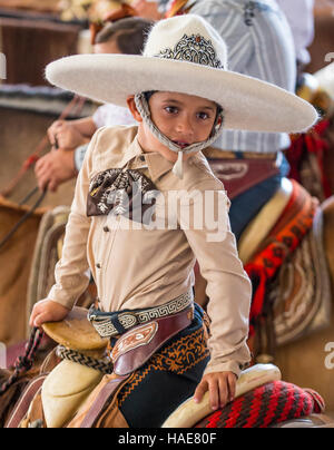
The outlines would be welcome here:
M 69 120 L 57 120 L 48 129 L 50 144 L 57 148 L 73 149 L 87 143 L 87 138 Z

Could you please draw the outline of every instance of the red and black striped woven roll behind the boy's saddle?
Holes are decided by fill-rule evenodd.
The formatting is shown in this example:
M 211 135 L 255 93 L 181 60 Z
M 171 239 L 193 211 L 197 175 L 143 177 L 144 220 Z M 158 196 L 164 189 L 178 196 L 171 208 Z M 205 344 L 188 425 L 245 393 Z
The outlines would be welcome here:
M 315 399 L 316 397 L 316 399 Z M 322 412 L 323 400 L 292 383 L 274 381 L 236 399 L 196 428 L 267 428 Z

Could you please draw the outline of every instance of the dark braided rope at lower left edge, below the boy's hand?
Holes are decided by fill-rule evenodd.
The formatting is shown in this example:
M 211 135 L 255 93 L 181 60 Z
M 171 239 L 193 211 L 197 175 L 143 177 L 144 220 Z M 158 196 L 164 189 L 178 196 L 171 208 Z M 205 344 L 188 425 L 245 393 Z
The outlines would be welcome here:
M 32 329 L 26 346 L 26 353 L 23 356 L 19 356 L 17 359 L 12 375 L 0 387 L 0 397 L 3 395 L 21 375 L 27 373 L 32 368 L 42 336 L 43 332 L 38 327 Z

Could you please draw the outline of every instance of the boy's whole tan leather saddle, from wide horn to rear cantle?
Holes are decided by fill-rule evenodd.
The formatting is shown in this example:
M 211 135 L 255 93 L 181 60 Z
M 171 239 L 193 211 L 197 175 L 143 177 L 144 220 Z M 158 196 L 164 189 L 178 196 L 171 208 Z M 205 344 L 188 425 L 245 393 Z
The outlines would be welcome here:
M 86 319 L 87 311 L 75 309 L 63 322 L 48 323 L 43 325 L 46 333 L 51 335 L 60 345 L 80 351 L 84 355 L 102 358 L 107 350 L 108 340 L 102 340 L 94 326 Z M 175 319 L 175 317 L 174 317 Z M 168 317 L 159 319 L 159 326 L 164 340 L 168 340 L 170 334 L 184 329 L 191 321 L 189 312 L 176 314 L 174 329 L 170 330 Z M 156 323 L 153 322 L 153 323 Z M 87 368 L 82 362 L 63 360 L 38 384 L 38 389 L 32 391 L 33 395 L 21 398 L 20 404 L 30 404 L 26 418 L 21 421 L 21 428 L 91 428 L 99 423 L 106 427 L 106 412 L 104 419 L 99 419 L 102 407 L 110 395 L 117 395 L 125 385 L 130 373 L 141 365 L 154 352 L 151 343 L 156 334 L 155 325 L 148 323 L 136 326 L 119 339 L 112 350 L 114 373 L 102 374 L 99 370 Z M 161 341 L 161 336 L 159 336 Z M 147 345 L 148 344 L 148 345 Z M 159 342 L 159 345 L 161 342 Z M 87 350 L 89 349 L 89 350 Z M 130 353 L 139 349 L 134 355 Z M 147 350 L 146 350 L 147 349 Z M 138 359 L 139 355 L 139 359 Z M 130 358 L 129 358 L 130 356 Z M 115 369 L 116 368 L 116 369 Z M 117 372 L 117 373 L 116 373 Z M 259 385 L 281 379 L 279 370 L 274 365 L 256 365 L 243 372 L 237 382 L 237 397 L 253 390 Z M 31 397 L 29 387 L 28 397 Z M 115 407 L 115 400 L 107 411 L 110 414 L 107 427 L 127 427 L 126 421 Z M 114 403 L 112 403 L 114 402 Z M 114 404 L 114 407 L 112 407 Z M 190 404 L 190 408 L 189 408 Z M 26 408 L 28 409 L 28 407 Z M 22 408 L 16 408 L 19 417 L 12 417 L 9 424 L 18 424 L 22 419 Z M 198 405 L 189 399 L 186 404 L 171 414 L 164 427 L 191 427 L 198 420 L 210 413 L 208 395 Z M 96 421 L 98 424 L 96 424 Z M 11 427 L 9 427 L 11 428 Z

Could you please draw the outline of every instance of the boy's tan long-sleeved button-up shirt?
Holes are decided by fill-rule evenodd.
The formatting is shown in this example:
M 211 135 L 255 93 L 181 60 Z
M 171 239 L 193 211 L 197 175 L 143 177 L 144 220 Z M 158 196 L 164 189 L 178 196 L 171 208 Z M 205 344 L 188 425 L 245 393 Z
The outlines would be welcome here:
M 90 267 L 104 311 L 161 305 L 191 288 L 197 260 L 207 280 L 207 313 L 212 320 L 212 360 L 206 373 L 233 371 L 238 375 L 240 366 L 249 361 L 246 339 L 252 287 L 229 228 L 229 200 L 202 153 L 184 162 L 183 179 L 173 174 L 173 166 L 159 153 L 143 151 L 137 127 L 101 128 L 96 133 L 78 176 L 62 258 L 49 299 L 71 309 L 88 286 Z M 160 193 L 156 222 L 169 224 L 170 229 L 147 229 L 110 214 L 87 217 L 89 183 L 110 168 L 140 169 L 154 182 Z M 214 196 L 205 197 L 206 192 Z M 177 226 L 166 213 L 170 209 L 168 195 L 175 193 L 194 194 L 190 202 L 181 200 L 184 206 L 175 213 Z M 215 209 L 216 218 L 220 214 L 224 239 L 213 233 L 212 222 L 205 222 L 206 205 Z M 196 216 L 191 219 L 194 208 Z M 197 222 L 202 215 L 203 224 Z

